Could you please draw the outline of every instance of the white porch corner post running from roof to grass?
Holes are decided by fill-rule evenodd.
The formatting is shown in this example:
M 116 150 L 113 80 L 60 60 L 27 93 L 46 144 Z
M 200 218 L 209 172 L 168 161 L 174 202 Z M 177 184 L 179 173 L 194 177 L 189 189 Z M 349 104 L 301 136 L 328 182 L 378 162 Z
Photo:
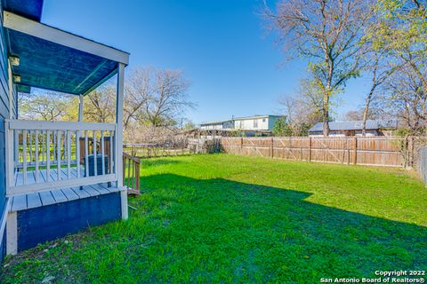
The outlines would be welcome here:
M 117 65 L 117 99 L 116 99 L 116 177 L 117 187 L 123 187 L 123 101 L 125 92 L 125 64 Z M 122 219 L 126 220 L 127 212 L 127 190 L 120 192 L 122 205 Z

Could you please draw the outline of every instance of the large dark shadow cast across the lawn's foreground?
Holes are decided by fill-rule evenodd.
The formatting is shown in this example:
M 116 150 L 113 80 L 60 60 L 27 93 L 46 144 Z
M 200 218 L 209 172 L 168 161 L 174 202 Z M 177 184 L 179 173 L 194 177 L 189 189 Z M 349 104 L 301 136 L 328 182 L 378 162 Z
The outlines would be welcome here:
M 141 177 L 141 187 L 128 221 L 22 252 L 0 282 L 318 283 L 427 268 L 426 227 L 315 204 L 310 193 L 172 174 Z

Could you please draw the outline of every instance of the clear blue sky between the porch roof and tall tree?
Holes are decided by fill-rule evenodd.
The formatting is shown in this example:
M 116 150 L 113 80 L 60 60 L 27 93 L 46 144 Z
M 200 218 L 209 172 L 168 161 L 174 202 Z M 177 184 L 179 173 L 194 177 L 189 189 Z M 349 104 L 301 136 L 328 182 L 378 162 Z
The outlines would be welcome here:
M 193 122 L 280 114 L 306 62 L 286 61 L 262 28 L 260 0 L 44 0 L 42 21 L 131 53 L 129 67 L 181 69 Z M 269 2 L 273 4 L 273 1 Z M 341 96 L 338 117 L 362 104 L 364 80 Z

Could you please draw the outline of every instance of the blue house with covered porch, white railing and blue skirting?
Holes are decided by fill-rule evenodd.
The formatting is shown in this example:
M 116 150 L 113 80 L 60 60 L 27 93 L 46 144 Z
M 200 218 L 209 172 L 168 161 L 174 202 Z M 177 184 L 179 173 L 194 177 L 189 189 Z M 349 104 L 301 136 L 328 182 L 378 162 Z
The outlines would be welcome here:
M 129 53 L 41 23 L 43 0 L 0 7 L 0 251 L 127 218 L 123 96 Z M 83 97 L 117 75 L 115 123 L 83 121 Z M 18 120 L 18 92 L 79 97 L 77 122 Z

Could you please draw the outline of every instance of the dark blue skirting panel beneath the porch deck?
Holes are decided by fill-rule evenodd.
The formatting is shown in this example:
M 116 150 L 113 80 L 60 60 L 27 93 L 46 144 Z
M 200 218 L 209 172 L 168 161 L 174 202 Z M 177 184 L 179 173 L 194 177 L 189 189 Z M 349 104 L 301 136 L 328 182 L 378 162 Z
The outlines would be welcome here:
M 18 212 L 18 251 L 121 218 L 120 193 Z

